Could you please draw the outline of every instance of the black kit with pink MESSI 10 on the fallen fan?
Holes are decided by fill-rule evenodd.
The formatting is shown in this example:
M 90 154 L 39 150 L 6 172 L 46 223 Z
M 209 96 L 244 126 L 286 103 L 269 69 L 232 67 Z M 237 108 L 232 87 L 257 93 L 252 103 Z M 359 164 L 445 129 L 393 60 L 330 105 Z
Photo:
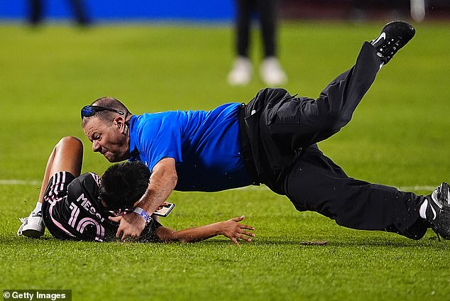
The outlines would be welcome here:
M 50 178 L 43 199 L 43 219 L 50 234 L 57 239 L 82 241 L 112 241 L 118 224 L 109 221 L 120 212 L 111 212 L 99 200 L 100 177 L 84 173 L 74 177 L 58 172 Z M 158 241 L 152 221 L 143 231 L 142 241 Z

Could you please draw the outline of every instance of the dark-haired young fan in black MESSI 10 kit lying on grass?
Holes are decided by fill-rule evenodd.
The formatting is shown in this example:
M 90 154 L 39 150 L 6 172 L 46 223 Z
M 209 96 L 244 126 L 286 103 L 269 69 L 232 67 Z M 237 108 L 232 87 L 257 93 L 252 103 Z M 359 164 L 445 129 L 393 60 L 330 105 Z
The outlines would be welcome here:
M 57 143 L 45 168 L 38 204 L 24 219 L 18 235 L 40 237 L 46 226 L 57 239 L 113 241 L 120 233 L 112 219 L 139 214 L 146 219 L 146 229 L 136 238 L 142 242 L 194 242 L 224 235 L 238 245 L 238 239 L 251 241 L 254 236 L 247 231 L 254 230 L 253 227 L 239 223 L 244 217 L 181 231 L 162 226 L 136 207 L 148 187 L 150 171 L 146 165 L 118 163 L 101 177 L 94 173 L 80 175 L 82 157 L 82 142 L 77 138 L 65 137 Z

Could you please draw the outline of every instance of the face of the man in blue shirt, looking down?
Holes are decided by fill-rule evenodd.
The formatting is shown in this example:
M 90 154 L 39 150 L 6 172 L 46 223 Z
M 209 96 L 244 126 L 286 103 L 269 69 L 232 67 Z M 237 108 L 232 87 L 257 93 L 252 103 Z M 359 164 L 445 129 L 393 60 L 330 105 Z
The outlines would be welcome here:
M 102 121 L 91 117 L 83 126 L 84 133 L 92 142 L 92 151 L 99 152 L 109 162 L 120 162 L 129 158 L 129 138 L 124 134 L 124 124 Z

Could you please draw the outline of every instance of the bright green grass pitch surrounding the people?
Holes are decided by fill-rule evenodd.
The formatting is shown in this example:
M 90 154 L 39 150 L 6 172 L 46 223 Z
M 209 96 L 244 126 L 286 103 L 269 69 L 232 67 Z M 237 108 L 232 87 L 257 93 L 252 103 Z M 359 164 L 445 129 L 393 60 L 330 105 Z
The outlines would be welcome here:
M 284 23 L 280 60 L 292 94 L 317 97 L 353 65 L 383 23 Z M 79 136 L 83 171 L 109 163 L 90 151 L 79 109 L 102 96 L 135 114 L 248 102 L 264 87 L 226 84 L 226 26 L 99 26 L 32 30 L 0 25 L 0 290 L 67 289 L 73 300 L 449 300 L 449 241 L 354 231 L 296 212 L 264 187 L 174 192 L 162 220 L 182 229 L 246 216 L 252 243 L 86 243 L 16 236 L 33 209 L 53 145 Z M 259 35 L 254 35 L 259 45 Z M 260 58 L 253 48 L 254 60 Z M 383 67 L 353 120 L 320 147 L 352 177 L 428 194 L 450 181 L 450 23 L 417 35 Z M 256 67 L 256 72 L 258 68 Z M 11 180 L 20 180 L 11 185 Z M 199 209 L 201 207 L 202 209 Z M 305 246 L 305 241 L 329 241 Z

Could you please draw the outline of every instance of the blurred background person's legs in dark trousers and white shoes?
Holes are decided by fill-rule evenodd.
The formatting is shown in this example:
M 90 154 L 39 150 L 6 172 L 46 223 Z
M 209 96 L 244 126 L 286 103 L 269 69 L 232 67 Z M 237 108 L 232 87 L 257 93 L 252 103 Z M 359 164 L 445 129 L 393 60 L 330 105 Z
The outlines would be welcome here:
M 277 1 L 236 0 L 236 9 L 236 58 L 228 75 L 229 84 L 245 85 L 251 80 L 253 67 L 248 55 L 248 48 L 254 12 L 258 13 L 263 40 L 263 62 L 260 65 L 260 77 L 269 86 L 278 86 L 287 82 L 285 72 L 277 58 Z

